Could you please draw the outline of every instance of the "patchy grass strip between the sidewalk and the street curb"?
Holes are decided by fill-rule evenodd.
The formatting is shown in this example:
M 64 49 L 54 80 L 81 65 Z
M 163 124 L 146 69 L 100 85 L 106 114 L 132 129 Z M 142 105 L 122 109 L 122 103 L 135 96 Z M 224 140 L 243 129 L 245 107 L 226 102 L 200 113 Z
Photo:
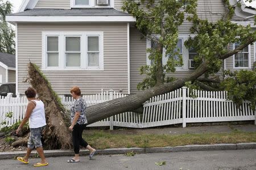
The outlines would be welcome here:
M 256 142 L 256 132 L 232 131 L 230 133 L 204 134 L 113 134 L 104 131 L 83 133 L 83 138 L 97 149 L 122 147 L 166 147 L 184 145 L 212 145 L 218 143 Z

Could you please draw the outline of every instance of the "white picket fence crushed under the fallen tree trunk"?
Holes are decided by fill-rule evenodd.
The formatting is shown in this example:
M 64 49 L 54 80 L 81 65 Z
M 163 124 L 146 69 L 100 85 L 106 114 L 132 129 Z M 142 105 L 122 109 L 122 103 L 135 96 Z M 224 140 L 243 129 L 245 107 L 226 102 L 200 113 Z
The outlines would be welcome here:
M 143 104 L 143 113 L 125 112 L 95 122 L 88 126 L 122 126 L 129 128 L 148 128 L 172 124 L 192 122 L 222 122 L 222 121 L 245 121 L 255 120 L 256 111 L 252 111 L 249 103 L 244 102 L 240 108 L 226 99 L 227 92 L 198 91 L 193 90 L 189 97 L 189 89 L 186 87 L 170 93 L 152 97 Z M 104 101 L 125 97 L 113 90 L 96 95 L 82 96 L 87 106 L 102 103 Z M 63 97 L 65 108 L 69 109 L 73 103 L 71 97 Z M 0 99 L 0 122 L 6 120 L 8 125 L 22 120 L 27 105 L 26 97 L 5 97 Z M 7 112 L 13 112 L 11 118 L 6 118 Z

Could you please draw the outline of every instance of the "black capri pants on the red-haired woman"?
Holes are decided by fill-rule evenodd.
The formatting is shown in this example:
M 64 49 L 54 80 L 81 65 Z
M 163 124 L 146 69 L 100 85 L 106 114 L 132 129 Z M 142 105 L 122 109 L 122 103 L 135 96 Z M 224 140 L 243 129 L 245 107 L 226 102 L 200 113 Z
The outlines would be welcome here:
M 82 138 L 82 131 L 85 129 L 86 124 L 76 124 L 72 131 L 73 147 L 75 154 L 79 154 L 80 146 L 86 147 L 88 143 Z

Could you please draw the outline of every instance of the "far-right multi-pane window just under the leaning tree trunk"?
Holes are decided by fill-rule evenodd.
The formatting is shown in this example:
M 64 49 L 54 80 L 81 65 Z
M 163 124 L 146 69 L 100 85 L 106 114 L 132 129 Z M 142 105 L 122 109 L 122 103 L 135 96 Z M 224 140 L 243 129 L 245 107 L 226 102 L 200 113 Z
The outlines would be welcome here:
M 235 43 L 233 49 L 236 49 L 240 46 L 240 43 Z M 249 46 L 246 46 L 242 49 L 241 52 L 238 52 L 234 55 L 234 68 L 249 68 L 250 67 L 250 53 Z

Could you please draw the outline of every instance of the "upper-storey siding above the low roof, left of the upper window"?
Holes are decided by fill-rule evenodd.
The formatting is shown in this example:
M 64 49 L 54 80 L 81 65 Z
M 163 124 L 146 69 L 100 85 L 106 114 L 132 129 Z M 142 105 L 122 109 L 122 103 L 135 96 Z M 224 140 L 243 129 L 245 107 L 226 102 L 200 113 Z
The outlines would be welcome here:
M 39 0 L 35 8 L 69 9 L 71 0 Z

